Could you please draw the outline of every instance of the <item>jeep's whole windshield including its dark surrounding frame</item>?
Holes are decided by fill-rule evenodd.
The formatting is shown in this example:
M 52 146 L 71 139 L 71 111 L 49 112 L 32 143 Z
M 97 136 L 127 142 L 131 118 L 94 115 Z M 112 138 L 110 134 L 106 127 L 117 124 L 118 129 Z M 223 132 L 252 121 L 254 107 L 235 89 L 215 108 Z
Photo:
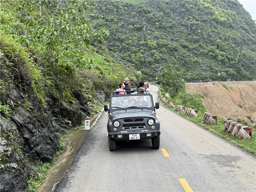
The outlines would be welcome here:
M 129 110 L 134 110 L 134 109 L 155 111 L 152 95 L 150 93 L 126 94 L 126 95 L 111 94 L 110 101 L 109 101 L 109 111 L 108 111 L 109 113 L 112 113 L 115 111 L 124 111 L 124 110 L 128 112 Z

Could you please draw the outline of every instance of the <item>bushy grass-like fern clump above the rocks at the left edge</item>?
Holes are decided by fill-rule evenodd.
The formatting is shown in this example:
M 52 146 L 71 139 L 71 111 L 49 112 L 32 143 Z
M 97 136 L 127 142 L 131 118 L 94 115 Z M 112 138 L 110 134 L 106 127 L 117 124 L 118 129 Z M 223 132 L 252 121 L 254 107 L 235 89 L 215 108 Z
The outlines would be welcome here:
M 40 68 L 29 57 L 23 48 L 11 35 L 1 32 L 1 94 L 8 92 L 11 86 L 31 83 L 34 93 L 45 103 L 45 79 Z

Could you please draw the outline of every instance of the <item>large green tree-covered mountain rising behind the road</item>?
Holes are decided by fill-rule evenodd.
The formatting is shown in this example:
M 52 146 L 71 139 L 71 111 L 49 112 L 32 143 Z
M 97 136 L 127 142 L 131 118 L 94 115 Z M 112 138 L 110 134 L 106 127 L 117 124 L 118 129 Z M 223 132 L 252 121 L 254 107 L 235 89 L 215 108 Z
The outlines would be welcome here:
M 256 24 L 238 1 L 97 3 L 104 45 L 144 77 L 159 76 L 171 57 L 187 81 L 256 77 Z

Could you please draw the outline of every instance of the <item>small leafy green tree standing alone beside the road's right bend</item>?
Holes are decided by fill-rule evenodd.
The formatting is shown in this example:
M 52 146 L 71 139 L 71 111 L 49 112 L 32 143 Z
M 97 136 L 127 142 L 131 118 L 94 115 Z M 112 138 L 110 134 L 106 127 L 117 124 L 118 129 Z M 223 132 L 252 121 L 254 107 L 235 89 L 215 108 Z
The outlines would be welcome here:
M 171 57 L 169 62 L 165 64 L 159 79 L 162 86 L 165 87 L 172 98 L 185 88 L 185 81 L 182 79 L 182 73 L 177 71 L 176 67 L 172 64 L 175 62 L 176 60 Z

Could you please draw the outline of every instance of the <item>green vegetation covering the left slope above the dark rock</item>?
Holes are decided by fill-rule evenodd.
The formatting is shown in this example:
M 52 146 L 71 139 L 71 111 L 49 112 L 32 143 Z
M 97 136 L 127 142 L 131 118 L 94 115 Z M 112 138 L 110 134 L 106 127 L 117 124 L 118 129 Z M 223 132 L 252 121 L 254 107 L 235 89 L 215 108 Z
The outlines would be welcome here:
M 54 1 L 51 1 L 50 4 L 51 6 L 42 4 L 42 16 L 40 17 L 38 4 L 28 4 L 28 1 L 1 2 L 1 94 L 4 95 L 5 92 L 8 92 L 10 86 L 14 84 L 20 84 L 20 87 L 24 88 L 25 84 L 22 79 L 19 79 L 20 76 L 30 79 L 33 90 L 41 99 L 42 104 L 45 104 L 44 96 L 50 92 L 61 95 L 63 92 L 68 93 L 70 90 L 79 88 L 85 95 L 92 95 L 95 99 L 94 91 L 96 89 L 100 88 L 111 92 L 126 77 L 129 77 L 132 83 L 140 80 L 140 76 L 136 75 L 134 68 L 130 69 L 122 63 L 117 63 L 108 55 L 105 47 L 99 44 L 100 41 L 103 41 L 102 38 L 107 33 L 107 29 L 104 29 L 105 31 L 102 33 L 99 32 L 100 28 L 93 31 L 90 27 L 92 19 L 86 19 L 87 23 L 84 23 L 90 30 L 82 30 L 82 33 L 84 30 L 89 33 L 86 34 L 88 41 L 81 39 L 77 42 L 74 35 L 66 37 L 72 41 L 63 39 L 64 37 L 60 36 L 62 31 L 56 32 L 57 24 L 51 25 L 49 20 L 54 18 L 53 23 L 60 20 L 58 22 L 62 22 L 67 28 L 74 29 L 72 33 L 78 34 L 77 24 L 80 24 L 81 27 L 82 24 L 79 21 L 82 19 L 73 20 L 75 14 L 69 14 L 69 12 L 65 13 L 65 18 L 63 18 L 61 12 L 64 8 L 56 7 Z M 73 4 L 73 6 L 75 5 Z M 52 10 L 49 7 L 53 7 Z M 19 11 L 16 12 L 16 8 L 22 11 L 21 14 Z M 81 8 L 83 7 L 78 7 L 80 12 Z M 52 11 L 55 11 L 56 14 L 51 15 Z M 68 21 L 73 25 L 69 25 L 69 22 L 65 21 L 66 14 Z M 95 14 L 97 15 L 97 13 Z M 37 17 L 43 18 L 43 21 L 39 22 L 40 19 Z M 38 30 L 35 30 L 35 26 Z M 36 31 L 39 34 L 35 35 Z M 50 34 L 50 32 L 52 33 Z M 99 42 L 97 43 L 95 39 L 98 37 Z M 46 39 L 48 41 L 45 41 Z M 92 41 L 97 46 L 89 45 Z M 21 44 L 25 47 L 22 48 Z M 15 59 L 17 57 L 19 60 Z

